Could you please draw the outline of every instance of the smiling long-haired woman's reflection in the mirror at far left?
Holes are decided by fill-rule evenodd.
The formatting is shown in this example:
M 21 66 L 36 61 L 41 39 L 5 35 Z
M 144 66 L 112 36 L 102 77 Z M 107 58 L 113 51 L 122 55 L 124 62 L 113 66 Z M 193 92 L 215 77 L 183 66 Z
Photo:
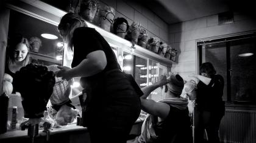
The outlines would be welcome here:
M 5 74 L 14 78 L 16 71 L 29 64 L 29 47 L 29 41 L 22 35 L 10 37 L 5 57 Z M 15 93 L 15 87 L 13 92 Z

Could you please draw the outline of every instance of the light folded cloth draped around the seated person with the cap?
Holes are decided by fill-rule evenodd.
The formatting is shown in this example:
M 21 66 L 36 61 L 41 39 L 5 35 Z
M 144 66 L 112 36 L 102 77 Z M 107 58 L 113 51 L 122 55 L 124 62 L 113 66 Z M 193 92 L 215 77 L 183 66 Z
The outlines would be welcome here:
M 179 110 L 185 110 L 188 106 L 188 100 L 184 98 L 174 97 L 174 98 L 168 98 L 160 100 L 159 102 L 167 103 L 170 106 L 173 106 L 175 108 L 178 108 Z M 135 142 L 154 142 L 154 139 L 157 139 L 157 134 L 155 134 L 154 130 L 154 116 L 151 114 L 148 114 L 146 116 L 146 119 L 144 120 L 142 127 L 141 127 L 141 135 L 133 141 Z

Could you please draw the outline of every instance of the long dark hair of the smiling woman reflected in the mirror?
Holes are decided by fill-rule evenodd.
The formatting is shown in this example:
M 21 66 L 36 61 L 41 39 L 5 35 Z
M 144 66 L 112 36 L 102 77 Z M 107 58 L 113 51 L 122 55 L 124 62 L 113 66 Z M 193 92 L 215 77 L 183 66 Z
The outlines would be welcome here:
M 29 41 L 27 40 L 27 38 L 24 38 L 23 35 L 21 34 L 15 34 L 11 37 L 9 37 L 8 39 L 8 46 L 7 46 L 7 53 L 6 53 L 6 59 L 7 59 L 7 63 L 14 63 L 15 61 L 15 49 L 17 44 L 25 44 L 27 46 L 27 56 L 26 58 L 23 60 L 23 65 L 26 66 L 29 63 L 29 51 L 30 51 L 30 44 Z

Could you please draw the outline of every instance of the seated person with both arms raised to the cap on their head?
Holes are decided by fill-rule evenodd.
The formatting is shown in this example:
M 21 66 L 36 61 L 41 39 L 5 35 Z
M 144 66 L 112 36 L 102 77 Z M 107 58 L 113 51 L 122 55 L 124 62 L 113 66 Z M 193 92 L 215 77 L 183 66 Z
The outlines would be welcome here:
M 163 85 L 165 97 L 160 102 L 147 99 L 154 89 Z M 163 75 L 159 82 L 146 86 L 141 90 L 141 108 L 149 116 L 146 117 L 138 142 L 191 142 L 190 117 L 188 116 L 188 100 L 180 97 L 184 83 L 179 74 L 166 78 Z M 148 134 L 151 133 L 151 134 Z M 150 138 L 148 138 L 150 137 Z

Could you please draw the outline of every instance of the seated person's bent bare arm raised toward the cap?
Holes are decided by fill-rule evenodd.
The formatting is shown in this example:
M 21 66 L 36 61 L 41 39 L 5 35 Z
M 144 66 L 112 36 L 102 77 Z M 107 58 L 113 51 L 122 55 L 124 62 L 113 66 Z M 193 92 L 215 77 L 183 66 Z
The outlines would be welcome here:
M 146 99 L 149 94 L 154 91 L 154 89 L 163 86 L 167 83 L 166 77 L 163 76 L 160 82 L 156 82 L 152 85 L 146 86 L 141 90 L 144 92 L 143 96 L 140 97 L 141 99 L 141 108 L 146 113 L 152 114 L 154 116 L 158 116 L 162 119 L 165 119 L 169 113 L 169 105 L 162 102 L 155 102 L 151 99 Z

